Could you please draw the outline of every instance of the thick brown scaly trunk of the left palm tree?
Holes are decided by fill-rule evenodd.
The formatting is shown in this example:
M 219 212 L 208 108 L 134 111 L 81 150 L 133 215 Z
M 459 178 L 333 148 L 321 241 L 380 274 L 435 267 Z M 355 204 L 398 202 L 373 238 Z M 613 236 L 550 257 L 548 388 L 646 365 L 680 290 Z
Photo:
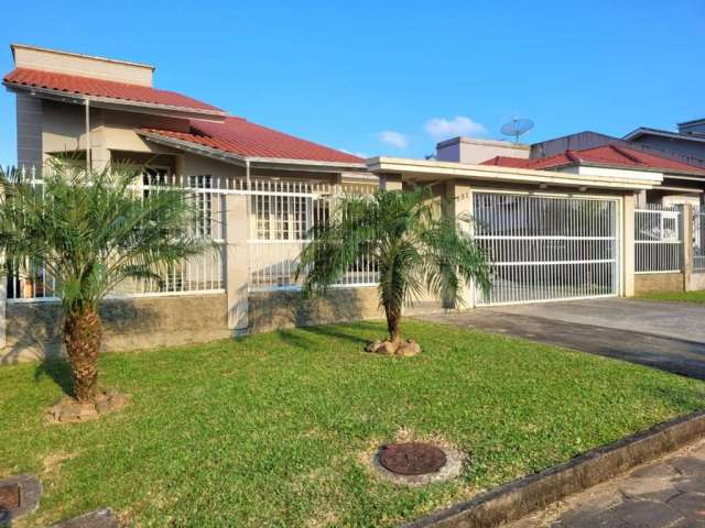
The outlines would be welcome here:
M 70 362 L 74 396 L 93 402 L 98 382 L 98 354 L 102 326 L 95 308 L 74 309 L 64 320 L 64 344 Z

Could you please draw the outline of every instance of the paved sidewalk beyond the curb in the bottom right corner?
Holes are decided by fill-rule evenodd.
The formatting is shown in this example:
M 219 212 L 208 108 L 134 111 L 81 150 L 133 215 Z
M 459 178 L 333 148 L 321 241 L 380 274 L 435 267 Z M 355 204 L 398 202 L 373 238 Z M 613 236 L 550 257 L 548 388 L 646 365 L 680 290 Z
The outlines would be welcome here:
M 705 528 L 705 441 L 507 528 Z

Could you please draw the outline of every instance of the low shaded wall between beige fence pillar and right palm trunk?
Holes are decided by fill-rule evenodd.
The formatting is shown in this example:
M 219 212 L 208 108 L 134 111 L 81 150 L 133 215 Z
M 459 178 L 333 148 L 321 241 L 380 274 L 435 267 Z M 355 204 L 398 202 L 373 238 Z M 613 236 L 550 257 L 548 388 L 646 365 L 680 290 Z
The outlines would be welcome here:
M 265 332 L 278 328 L 378 319 L 377 288 L 332 288 L 325 296 L 304 299 L 299 292 L 264 292 L 249 295 L 249 329 Z

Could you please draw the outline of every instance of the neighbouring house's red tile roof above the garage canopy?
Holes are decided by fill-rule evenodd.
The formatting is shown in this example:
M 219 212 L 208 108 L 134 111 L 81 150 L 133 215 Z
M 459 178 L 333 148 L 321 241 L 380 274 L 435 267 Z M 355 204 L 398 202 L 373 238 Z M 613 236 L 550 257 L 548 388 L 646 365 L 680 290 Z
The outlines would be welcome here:
M 705 169 L 686 163 L 669 160 L 633 148 L 617 145 L 603 145 L 582 151 L 567 150 L 550 157 L 538 160 L 520 160 L 517 157 L 496 156 L 481 165 L 496 165 L 513 168 L 532 168 L 534 170 L 564 167 L 570 165 L 600 165 L 620 168 L 660 169 L 666 173 L 693 173 L 705 175 Z

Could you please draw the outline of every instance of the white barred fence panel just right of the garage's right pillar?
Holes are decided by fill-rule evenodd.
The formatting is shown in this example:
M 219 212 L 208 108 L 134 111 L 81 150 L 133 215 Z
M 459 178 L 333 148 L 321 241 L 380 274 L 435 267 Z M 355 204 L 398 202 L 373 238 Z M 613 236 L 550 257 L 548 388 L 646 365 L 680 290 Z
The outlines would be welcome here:
M 673 273 L 682 267 L 682 210 L 658 204 L 634 210 L 634 272 Z

